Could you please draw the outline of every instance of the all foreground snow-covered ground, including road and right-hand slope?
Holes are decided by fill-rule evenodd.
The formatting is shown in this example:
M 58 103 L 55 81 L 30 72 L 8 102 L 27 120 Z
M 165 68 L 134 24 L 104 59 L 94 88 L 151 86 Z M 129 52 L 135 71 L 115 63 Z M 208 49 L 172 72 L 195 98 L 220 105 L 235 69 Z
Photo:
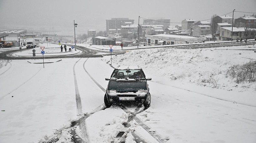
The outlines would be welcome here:
M 151 106 L 136 115 L 150 127 L 150 133 L 135 120 L 128 121 L 129 114 L 113 105 L 86 119 L 90 142 L 116 141 L 117 134 L 125 132 L 127 143 L 134 142 L 134 135 L 144 142 L 154 142 L 150 134 L 168 143 L 255 143 L 256 83 L 236 84 L 225 74 L 234 64 L 255 61 L 256 53 L 230 49 L 256 48 L 157 48 L 112 56 L 114 67 L 140 65 L 146 77 L 152 78 L 148 82 Z M 74 74 L 82 112 L 89 113 L 103 105 L 104 92 L 86 71 L 106 88 L 105 78 L 113 71 L 107 64 L 109 60 L 110 56 L 48 59 L 53 63 L 45 64 L 45 68 L 28 60 L 0 60 L 0 142 L 43 141 L 43 136 L 54 136 L 59 128 L 68 127 L 71 120 L 80 117 L 76 111 Z M 217 81 L 217 87 L 204 82 L 208 79 Z M 137 110 L 137 106 L 127 108 L 130 113 Z M 126 122 L 130 127 L 124 125 Z M 76 130 L 79 134 L 79 127 Z M 70 141 L 70 129 L 63 130 L 62 136 L 59 142 Z M 81 132 L 79 137 L 82 136 Z

